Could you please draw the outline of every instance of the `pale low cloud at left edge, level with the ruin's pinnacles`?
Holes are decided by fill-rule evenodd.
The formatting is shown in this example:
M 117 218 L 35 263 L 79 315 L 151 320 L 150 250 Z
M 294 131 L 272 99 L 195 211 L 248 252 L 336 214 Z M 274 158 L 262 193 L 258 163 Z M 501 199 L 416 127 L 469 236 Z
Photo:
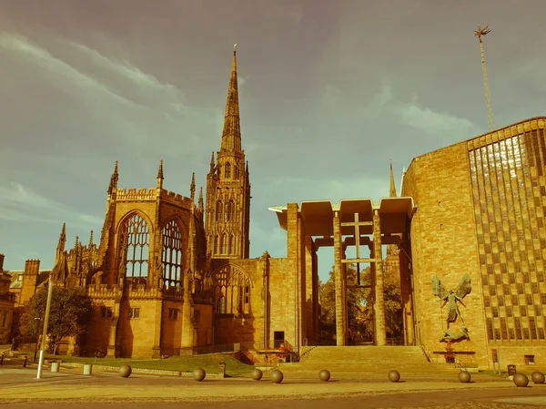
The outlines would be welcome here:
M 7 186 L 0 184 L 0 197 L 3 199 L 0 204 L 2 220 L 16 222 L 33 220 L 59 224 L 66 221 L 82 229 L 100 226 L 104 221 L 94 215 L 70 209 L 16 182 L 11 182 Z

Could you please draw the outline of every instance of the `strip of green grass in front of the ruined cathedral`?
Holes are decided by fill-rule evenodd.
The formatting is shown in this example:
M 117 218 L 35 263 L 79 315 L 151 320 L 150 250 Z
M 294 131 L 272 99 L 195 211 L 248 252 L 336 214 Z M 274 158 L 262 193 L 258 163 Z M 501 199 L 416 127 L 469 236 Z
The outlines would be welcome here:
M 197 368 L 203 368 L 207 373 L 217 373 L 218 363 L 226 363 L 226 373 L 230 376 L 250 373 L 254 369 L 254 365 L 241 363 L 230 355 L 219 353 L 213 355 L 171 356 L 167 359 L 83 358 L 65 355 L 47 355 L 45 359 L 57 359 L 64 363 L 92 363 L 103 366 L 119 366 L 126 363 L 135 369 L 156 369 L 161 371 L 193 372 Z

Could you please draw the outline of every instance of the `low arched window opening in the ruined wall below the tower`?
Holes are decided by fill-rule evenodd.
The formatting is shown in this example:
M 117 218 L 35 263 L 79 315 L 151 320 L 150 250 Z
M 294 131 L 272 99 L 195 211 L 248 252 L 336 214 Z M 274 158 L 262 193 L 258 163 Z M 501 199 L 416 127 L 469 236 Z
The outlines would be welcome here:
M 250 289 L 248 274 L 231 266 L 225 266 L 214 275 L 216 312 L 220 314 L 250 313 Z

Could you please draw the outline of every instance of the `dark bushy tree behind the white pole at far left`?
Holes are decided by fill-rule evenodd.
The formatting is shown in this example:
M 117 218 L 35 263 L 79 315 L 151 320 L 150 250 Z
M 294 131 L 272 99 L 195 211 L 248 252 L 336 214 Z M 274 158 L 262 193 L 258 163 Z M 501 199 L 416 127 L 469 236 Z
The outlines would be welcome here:
M 42 334 L 46 303 L 47 289 L 36 291 L 19 321 L 19 329 L 24 335 Z M 56 343 L 61 339 L 86 333 L 91 323 L 92 313 L 93 302 L 85 289 L 55 286 L 47 325 L 49 352 L 56 351 Z

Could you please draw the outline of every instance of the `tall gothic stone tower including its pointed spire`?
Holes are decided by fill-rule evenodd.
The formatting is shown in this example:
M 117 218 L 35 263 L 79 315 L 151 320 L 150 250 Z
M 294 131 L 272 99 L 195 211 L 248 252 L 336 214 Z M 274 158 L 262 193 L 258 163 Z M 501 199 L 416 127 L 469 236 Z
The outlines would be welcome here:
M 241 148 L 237 57 L 233 51 L 222 143 L 207 175 L 207 252 L 215 259 L 248 259 L 250 181 Z

